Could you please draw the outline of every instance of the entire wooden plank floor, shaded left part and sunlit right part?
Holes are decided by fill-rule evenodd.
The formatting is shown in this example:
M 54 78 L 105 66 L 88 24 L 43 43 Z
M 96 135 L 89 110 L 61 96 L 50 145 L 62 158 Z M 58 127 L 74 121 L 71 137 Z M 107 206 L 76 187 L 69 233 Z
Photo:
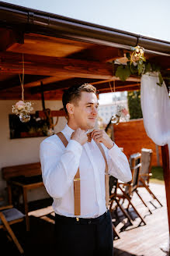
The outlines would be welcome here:
M 139 198 L 134 194 L 133 202 L 137 207 L 137 210 L 144 217 L 147 222 L 146 226 L 138 226 L 141 222 L 133 211 L 130 214 L 134 217 L 134 225 L 129 226 L 127 219 L 118 212 L 121 221 L 116 221 L 113 215 L 113 222 L 116 225 L 116 230 L 120 234 L 120 239 L 114 240 L 114 256 L 165 256 L 161 251 L 161 245 L 168 243 L 168 216 L 166 211 L 165 201 L 165 187 L 160 184 L 151 183 L 151 190 L 154 192 L 158 199 L 163 204 L 160 207 L 158 203 L 152 200 L 147 190 L 140 189 L 140 194 L 144 198 L 144 201 L 150 206 L 152 214 L 147 211 L 144 204 L 141 203 Z M 154 208 L 152 201 L 158 208 Z M 51 201 L 50 201 L 51 203 Z M 54 241 L 54 217 L 50 214 L 52 211 L 51 206 L 47 206 L 48 203 L 43 205 L 37 205 L 38 210 L 29 212 L 30 219 L 30 231 L 26 232 L 26 226 L 24 222 L 13 225 L 13 230 L 22 244 L 25 251 L 25 256 L 54 256 L 58 255 L 57 248 Z M 44 208 L 43 208 L 44 206 Z M 31 208 L 31 207 L 30 207 Z M 123 229 L 125 227 L 125 229 Z M 18 256 L 19 252 L 12 242 L 10 242 L 3 230 L 0 230 L 1 241 L 1 255 L 12 254 Z M 3 254 L 2 251 L 5 251 Z M 80 255 L 81 256 L 81 255 Z M 88 255 L 87 255 L 88 256 Z M 105 256 L 105 255 L 103 255 Z

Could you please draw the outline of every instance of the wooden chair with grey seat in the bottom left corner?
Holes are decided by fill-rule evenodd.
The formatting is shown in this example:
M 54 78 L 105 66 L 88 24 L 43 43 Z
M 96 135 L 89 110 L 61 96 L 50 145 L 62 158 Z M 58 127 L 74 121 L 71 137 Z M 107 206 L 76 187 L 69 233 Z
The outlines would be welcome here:
M 9 235 L 9 240 L 13 240 L 18 248 L 20 254 L 23 254 L 23 248 L 19 244 L 16 235 L 11 229 L 11 225 L 17 222 L 22 222 L 25 219 L 25 215 L 19 212 L 16 208 L 13 208 L 12 204 L 0 207 L 0 229 L 4 229 Z

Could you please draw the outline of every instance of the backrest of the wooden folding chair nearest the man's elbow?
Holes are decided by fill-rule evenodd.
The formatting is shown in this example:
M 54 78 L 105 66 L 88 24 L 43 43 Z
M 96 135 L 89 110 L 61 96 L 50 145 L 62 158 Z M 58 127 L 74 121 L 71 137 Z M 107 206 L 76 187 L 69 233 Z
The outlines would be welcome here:
M 130 182 L 131 193 L 137 188 L 139 183 L 139 175 L 141 173 L 141 153 L 137 152 L 133 155 L 130 155 L 129 163 L 132 172 L 132 180 Z

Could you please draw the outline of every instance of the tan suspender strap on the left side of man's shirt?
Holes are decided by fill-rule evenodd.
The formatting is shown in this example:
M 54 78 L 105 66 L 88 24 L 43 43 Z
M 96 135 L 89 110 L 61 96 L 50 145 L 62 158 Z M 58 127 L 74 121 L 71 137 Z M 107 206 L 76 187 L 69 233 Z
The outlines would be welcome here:
M 68 140 L 64 137 L 64 134 L 59 132 L 57 136 L 61 139 L 62 143 L 64 144 L 65 148 L 68 145 Z M 81 204 L 80 204 L 80 172 L 79 168 L 75 174 L 74 178 L 74 195 L 75 195 L 75 216 L 81 215 Z

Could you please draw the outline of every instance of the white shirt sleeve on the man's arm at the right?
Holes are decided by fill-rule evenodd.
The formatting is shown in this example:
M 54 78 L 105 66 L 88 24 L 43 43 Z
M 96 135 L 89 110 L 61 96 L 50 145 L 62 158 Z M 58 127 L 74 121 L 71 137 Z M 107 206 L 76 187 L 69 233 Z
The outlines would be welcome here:
M 127 156 L 114 143 L 113 148 L 106 148 L 109 174 L 123 182 L 132 180 L 132 173 Z

